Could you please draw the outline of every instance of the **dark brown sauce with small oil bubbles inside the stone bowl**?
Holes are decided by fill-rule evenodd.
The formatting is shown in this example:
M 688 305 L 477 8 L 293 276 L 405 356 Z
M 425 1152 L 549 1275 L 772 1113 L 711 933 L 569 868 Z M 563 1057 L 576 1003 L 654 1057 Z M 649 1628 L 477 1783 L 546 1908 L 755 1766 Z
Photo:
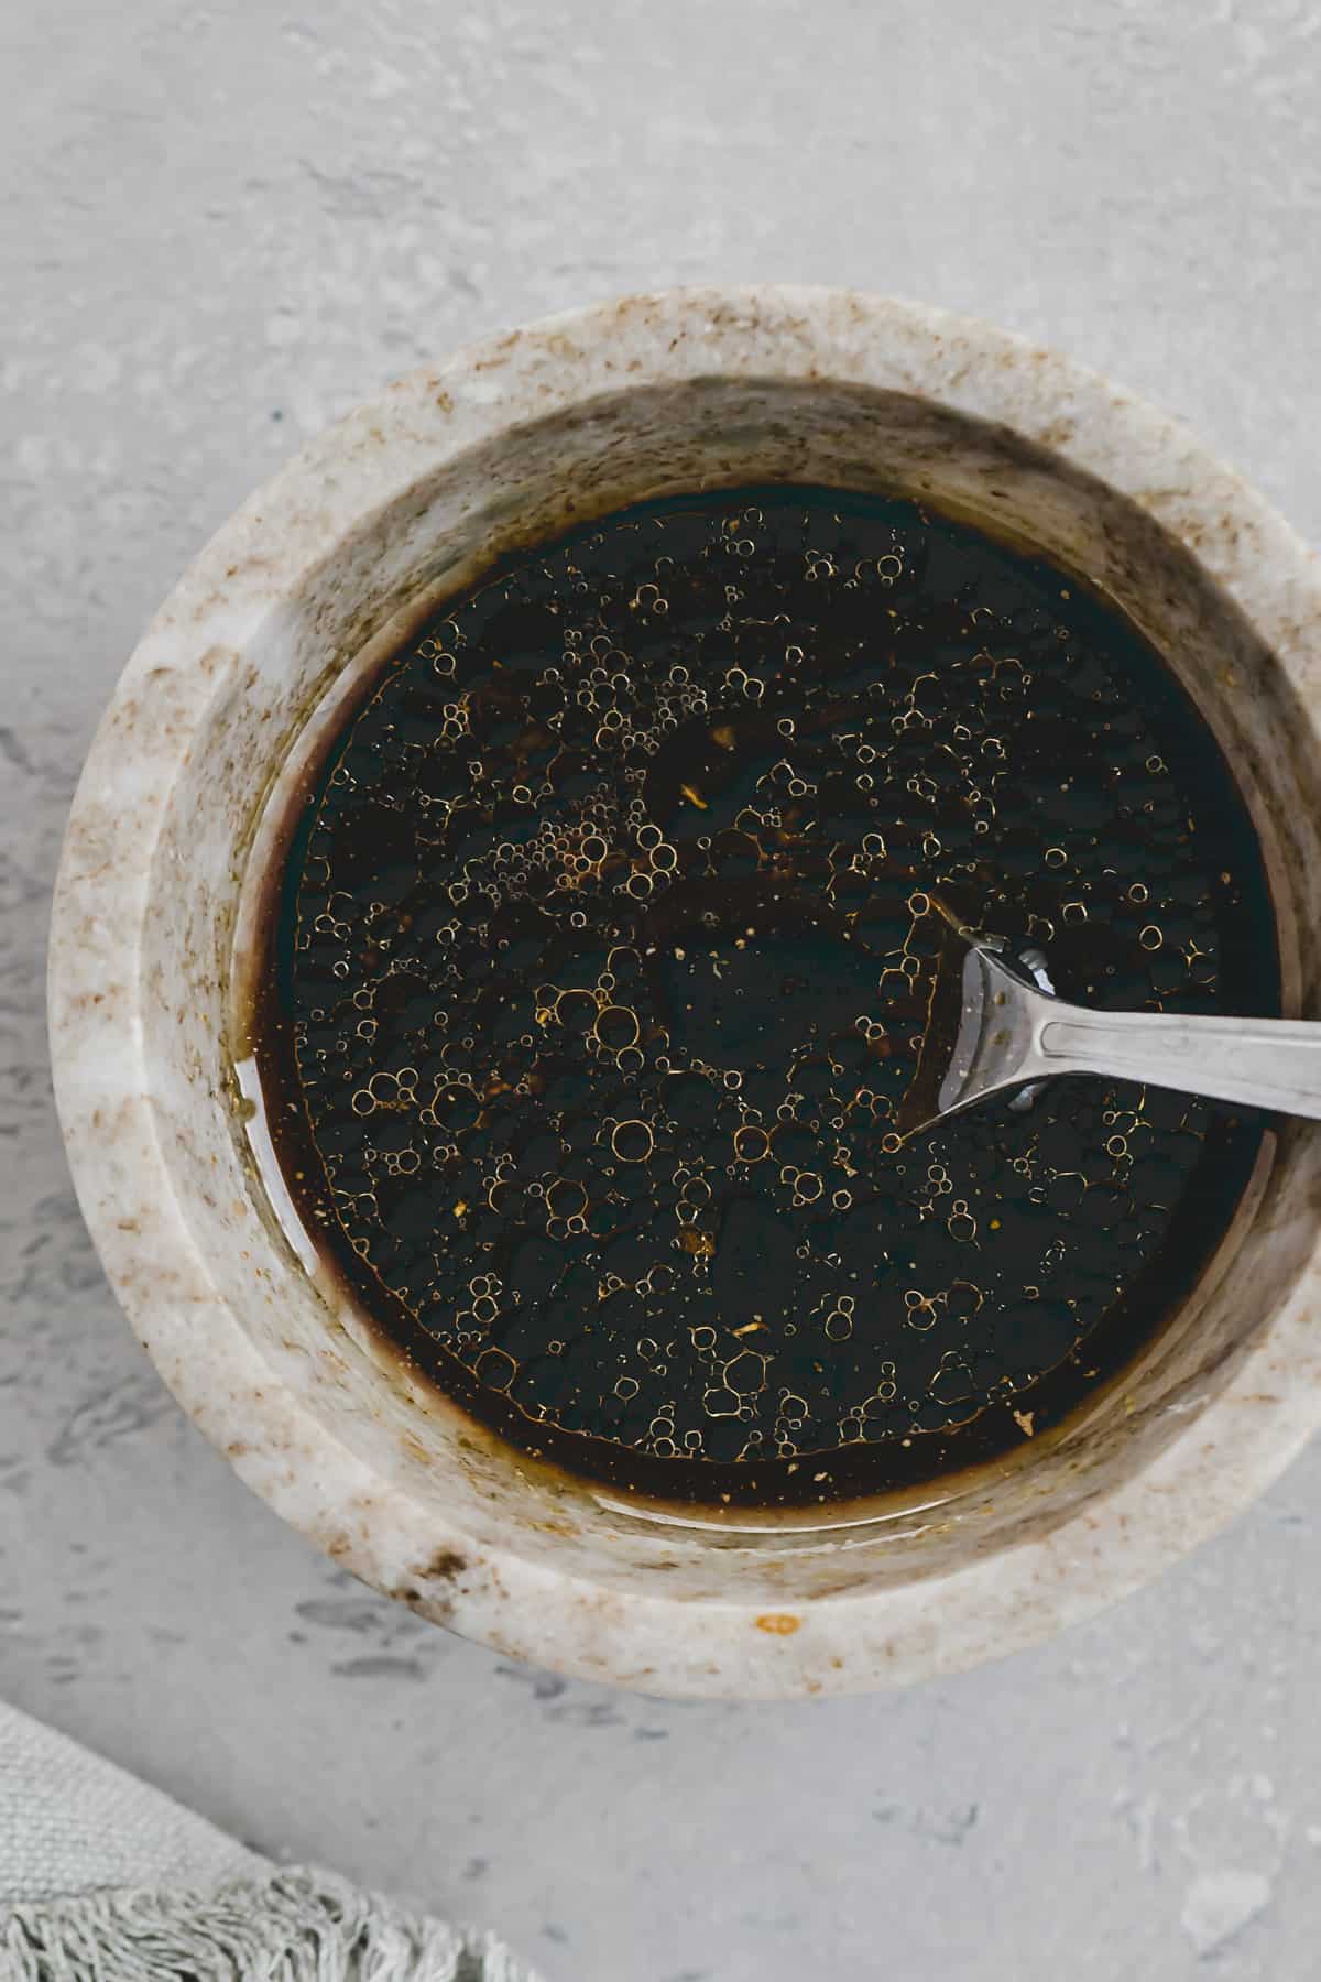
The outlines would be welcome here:
M 638 507 L 452 601 L 291 821 L 255 1050 L 307 1229 L 527 1453 L 913 1486 L 1151 1338 L 1262 1122 L 1052 1082 L 897 1146 L 939 890 L 1111 1009 L 1279 1009 L 1242 797 L 1085 585 L 909 501 Z

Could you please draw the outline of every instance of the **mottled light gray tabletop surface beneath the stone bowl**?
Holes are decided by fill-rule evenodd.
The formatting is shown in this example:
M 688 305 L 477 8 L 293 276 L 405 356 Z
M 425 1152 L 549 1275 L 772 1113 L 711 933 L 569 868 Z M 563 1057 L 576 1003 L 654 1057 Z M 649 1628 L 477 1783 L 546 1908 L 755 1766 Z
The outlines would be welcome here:
M 707 277 L 919 295 L 1186 414 L 1321 537 L 1315 0 L 2 0 L 0 73 L 0 1693 L 559 1982 L 1315 1976 L 1321 1451 L 947 1685 L 515 1671 L 349 1584 L 166 1399 L 42 1031 L 143 620 L 303 434 L 477 331 Z

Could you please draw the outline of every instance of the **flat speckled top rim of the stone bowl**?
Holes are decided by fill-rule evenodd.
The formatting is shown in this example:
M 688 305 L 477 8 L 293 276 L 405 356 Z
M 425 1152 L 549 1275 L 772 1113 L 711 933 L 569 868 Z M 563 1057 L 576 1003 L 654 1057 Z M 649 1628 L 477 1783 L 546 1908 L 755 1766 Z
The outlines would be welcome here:
M 325 1427 L 210 1288 L 158 1138 L 143 1058 L 141 928 L 198 688 L 141 759 L 123 731 L 162 670 L 202 684 L 218 640 L 293 595 L 368 511 L 471 446 L 622 386 L 715 375 L 848 381 L 1002 422 L 1135 499 L 1230 593 L 1311 708 L 1321 565 L 1176 420 L 1060 353 L 974 317 L 848 289 L 628 295 L 483 337 L 313 438 L 184 573 L 133 652 L 69 815 L 50 936 L 55 1102 L 83 1217 L 139 1340 L 180 1405 L 277 1514 L 390 1594 L 418 1550 L 454 1560 L 394 1481 Z M 259 553 L 257 553 L 259 545 Z M 1315 644 L 1315 642 L 1313 642 Z M 125 803 L 131 797 L 133 803 Z M 107 803 L 121 801 L 121 803 Z M 117 995 L 107 995 L 113 989 Z M 143 1201 L 162 1215 L 139 1217 Z M 174 1215 L 170 1215 L 174 1207 Z M 210 1296 L 208 1296 L 210 1288 Z M 951 1673 L 1099 1611 L 1262 1492 L 1321 1419 L 1321 1247 L 1240 1368 L 1155 1461 L 1040 1540 L 873 1594 L 768 1611 L 566 1576 L 485 1550 L 418 1607 L 505 1655 L 687 1697 L 854 1693 Z M 206 1322 L 206 1356 L 196 1328 Z

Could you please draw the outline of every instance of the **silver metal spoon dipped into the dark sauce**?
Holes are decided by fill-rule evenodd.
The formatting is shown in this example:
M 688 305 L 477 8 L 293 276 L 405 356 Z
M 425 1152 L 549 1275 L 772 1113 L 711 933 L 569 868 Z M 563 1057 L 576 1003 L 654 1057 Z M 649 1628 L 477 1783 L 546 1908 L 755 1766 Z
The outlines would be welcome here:
M 1052 1074 L 1141 1080 L 1321 1120 L 1321 1025 L 1066 1005 L 1042 957 L 1014 959 L 1000 937 L 933 906 L 949 934 L 917 1072 L 897 1110 L 901 1136 Z

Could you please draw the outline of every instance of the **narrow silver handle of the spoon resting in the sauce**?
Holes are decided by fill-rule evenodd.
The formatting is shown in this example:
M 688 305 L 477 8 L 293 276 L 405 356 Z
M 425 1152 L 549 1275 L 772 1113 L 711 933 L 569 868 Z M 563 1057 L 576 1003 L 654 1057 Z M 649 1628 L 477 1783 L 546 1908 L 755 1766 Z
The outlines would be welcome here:
M 1034 1045 L 1050 1074 L 1145 1080 L 1321 1120 L 1321 1025 L 1103 1013 L 1042 1001 Z

